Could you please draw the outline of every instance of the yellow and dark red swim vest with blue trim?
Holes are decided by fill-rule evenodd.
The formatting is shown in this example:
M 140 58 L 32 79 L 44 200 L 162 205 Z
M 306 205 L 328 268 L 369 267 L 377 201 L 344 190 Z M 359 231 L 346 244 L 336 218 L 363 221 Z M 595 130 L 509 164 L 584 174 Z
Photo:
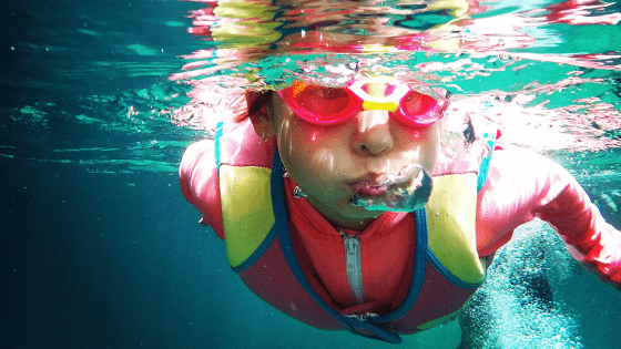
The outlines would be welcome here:
M 296 258 L 277 150 L 240 146 L 241 135 L 254 132 L 248 124 L 218 126 L 216 162 L 230 264 L 263 300 L 319 329 L 346 329 L 398 343 L 398 335 L 425 330 L 455 317 L 482 284 L 486 261 L 476 247 L 476 205 L 491 154 L 476 171 L 432 176 L 428 204 L 413 213 L 416 245 L 405 301 L 381 316 L 344 316 L 313 289 Z M 489 142 L 495 138 L 488 137 Z

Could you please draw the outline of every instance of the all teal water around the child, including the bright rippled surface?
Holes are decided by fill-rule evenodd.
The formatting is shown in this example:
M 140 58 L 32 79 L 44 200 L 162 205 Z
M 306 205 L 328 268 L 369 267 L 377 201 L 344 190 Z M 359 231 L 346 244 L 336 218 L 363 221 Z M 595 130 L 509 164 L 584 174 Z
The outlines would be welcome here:
M 508 142 L 563 164 L 621 227 L 621 11 L 612 2 L 578 12 L 554 3 L 480 2 L 458 20 L 460 8 L 414 16 L 407 11 L 421 3 L 369 2 L 375 10 L 346 21 L 272 1 L 254 1 L 258 12 L 235 2 L 6 3 L 2 347 L 388 347 L 315 330 L 263 304 L 230 270 L 222 242 L 196 224 L 176 181 L 184 147 L 211 134 L 213 120 L 203 116 L 223 107 L 205 91 L 248 76 L 254 88 L 299 74 L 334 81 L 359 60 L 345 49 L 374 71 L 414 72 L 449 89 L 464 110 L 499 115 Z M 385 32 L 343 44 L 346 34 L 381 37 L 369 21 L 408 40 Z M 238 23 L 256 31 L 240 33 Z M 425 38 L 410 32 L 447 23 Z M 334 40 L 308 39 L 317 28 Z M 308 45 L 285 50 L 285 34 L 302 31 Z M 438 40 L 446 45 L 429 45 Z M 499 252 L 461 321 L 470 348 L 619 348 L 621 300 L 536 222 Z M 403 347 L 458 342 L 451 322 Z

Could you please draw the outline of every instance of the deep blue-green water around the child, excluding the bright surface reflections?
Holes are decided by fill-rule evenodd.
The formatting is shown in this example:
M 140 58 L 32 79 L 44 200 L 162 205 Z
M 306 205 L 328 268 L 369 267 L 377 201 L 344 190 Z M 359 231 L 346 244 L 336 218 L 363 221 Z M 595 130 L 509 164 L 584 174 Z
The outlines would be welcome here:
M 263 304 L 181 195 L 176 165 L 205 133 L 171 123 L 190 89 L 167 76 L 203 47 L 185 32 L 197 4 L 3 8 L 2 348 L 389 347 Z M 621 227 L 620 150 L 549 155 Z M 464 322 L 472 348 L 621 348 L 619 292 L 540 223 L 499 253 Z M 449 326 L 406 342 L 451 348 L 459 335 Z

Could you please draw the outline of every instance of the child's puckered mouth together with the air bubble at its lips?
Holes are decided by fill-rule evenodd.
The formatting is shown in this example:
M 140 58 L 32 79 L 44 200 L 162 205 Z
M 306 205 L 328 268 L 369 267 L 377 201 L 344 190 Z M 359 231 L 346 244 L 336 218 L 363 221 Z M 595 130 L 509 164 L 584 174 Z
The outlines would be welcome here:
M 431 177 L 420 165 L 409 165 L 398 174 L 352 184 L 352 206 L 368 211 L 414 212 L 423 208 L 431 193 Z

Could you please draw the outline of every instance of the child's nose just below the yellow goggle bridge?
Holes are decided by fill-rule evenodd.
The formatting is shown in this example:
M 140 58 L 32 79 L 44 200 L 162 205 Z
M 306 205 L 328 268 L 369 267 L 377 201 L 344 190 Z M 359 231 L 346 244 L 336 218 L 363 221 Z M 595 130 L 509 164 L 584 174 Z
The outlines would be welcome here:
M 380 155 L 393 148 L 388 111 L 366 111 L 357 115 L 358 130 L 354 137 L 355 151 L 363 155 Z

